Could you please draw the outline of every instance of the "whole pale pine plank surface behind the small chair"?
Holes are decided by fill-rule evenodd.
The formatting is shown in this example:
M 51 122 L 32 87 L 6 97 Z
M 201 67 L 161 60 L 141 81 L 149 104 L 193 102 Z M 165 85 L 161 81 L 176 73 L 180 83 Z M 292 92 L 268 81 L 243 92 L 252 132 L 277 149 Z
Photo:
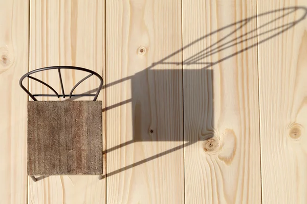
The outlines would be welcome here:
M 0 3 L 1 203 L 307 202 L 304 0 Z M 101 180 L 26 175 L 18 81 L 55 65 L 104 78 Z M 62 71 L 64 91 L 85 75 Z M 35 77 L 61 92 L 56 70 Z

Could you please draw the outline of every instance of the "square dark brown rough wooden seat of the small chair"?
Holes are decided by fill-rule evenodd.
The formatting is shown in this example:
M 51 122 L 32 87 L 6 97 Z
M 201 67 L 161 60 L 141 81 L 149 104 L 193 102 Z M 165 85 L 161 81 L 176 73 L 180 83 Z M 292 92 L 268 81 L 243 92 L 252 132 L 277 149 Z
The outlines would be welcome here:
M 28 102 L 28 175 L 102 174 L 101 101 Z

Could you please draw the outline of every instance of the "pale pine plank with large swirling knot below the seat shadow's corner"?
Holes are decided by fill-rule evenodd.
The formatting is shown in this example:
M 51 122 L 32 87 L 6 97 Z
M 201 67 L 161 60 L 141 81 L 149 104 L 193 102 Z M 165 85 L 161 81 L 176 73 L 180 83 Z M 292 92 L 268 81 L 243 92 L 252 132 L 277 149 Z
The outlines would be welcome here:
M 260 203 L 256 1 L 183 1 L 185 203 Z

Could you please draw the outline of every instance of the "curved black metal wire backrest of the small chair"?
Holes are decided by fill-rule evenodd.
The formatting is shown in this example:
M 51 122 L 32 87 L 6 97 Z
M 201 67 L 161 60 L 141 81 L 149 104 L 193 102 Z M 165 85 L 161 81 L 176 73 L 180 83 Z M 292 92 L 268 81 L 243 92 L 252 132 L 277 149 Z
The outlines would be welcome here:
M 36 79 L 36 78 L 30 76 L 30 75 L 33 74 L 33 73 L 40 72 L 40 71 L 45 71 L 45 70 L 50 70 L 50 69 L 57 69 L 58 72 L 59 72 L 59 78 L 60 78 L 60 83 L 61 83 L 62 94 L 58 94 L 54 88 L 52 88 L 50 85 L 46 84 L 45 82 L 42 82 L 42 81 L 40 81 L 39 79 Z M 70 94 L 66 94 L 66 95 L 65 95 L 65 93 L 64 93 L 64 87 L 63 87 L 63 82 L 62 82 L 62 76 L 61 76 L 61 69 L 75 69 L 75 70 L 80 70 L 80 71 L 86 71 L 86 72 L 89 72 L 90 74 L 87 75 L 87 76 L 86 76 L 85 78 L 83 78 L 82 80 L 80 80 L 80 81 L 72 88 Z M 78 86 L 79 84 L 81 84 L 83 81 L 85 81 L 87 78 L 92 77 L 92 75 L 95 75 L 95 76 L 98 77 L 99 80 L 100 80 L 100 85 L 99 85 L 99 87 L 98 87 L 98 90 L 97 90 L 96 94 L 73 94 L 73 91 L 77 88 L 77 86 Z M 41 84 L 47 86 L 47 87 L 50 88 L 55 94 L 33 94 L 33 95 L 32 95 L 32 94 L 28 91 L 28 89 L 26 89 L 26 87 L 24 87 L 24 85 L 23 85 L 23 80 L 24 80 L 25 78 L 29 78 L 29 79 L 35 80 L 35 81 L 37 81 L 37 82 L 39 82 L 39 83 L 41 83 Z M 97 97 L 98 97 L 98 94 L 99 94 L 99 92 L 100 92 L 100 90 L 101 90 L 101 88 L 102 88 L 103 80 L 102 80 L 102 77 L 101 77 L 98 73 L 96 73 L 95 71 L 92 71 L 92 70 L 90 70 L 90 69 L 85 69 L 85 68 L 81 68 L 81 67 L 73 67 L 73 66 L 52 66 L 52 67 L 45 67 L 45 68 L 35 69 L 35 70 L 33 70 L 33 71 L 30 71 L 30 72 L 26 73 L 25 75 L 23 75 L 23 77 L 20 78 L 20 80 L 19 80 L 19 85 L 20 85 L 21 88 L 24 89 L 24 91 L 25 91 L 33 100 L 37 100 L 37 99 L 35 98 L 35 96 L 56 96 L 56 97 L 58 97 L 58 98 L 59 98 L 59 97 L 65 98 L 65 96 L 69 96 L 70 98 L 71 98 L 72 96 L 94 96 L 94 99 L 93 99 L 93 100 L 96 100 Z

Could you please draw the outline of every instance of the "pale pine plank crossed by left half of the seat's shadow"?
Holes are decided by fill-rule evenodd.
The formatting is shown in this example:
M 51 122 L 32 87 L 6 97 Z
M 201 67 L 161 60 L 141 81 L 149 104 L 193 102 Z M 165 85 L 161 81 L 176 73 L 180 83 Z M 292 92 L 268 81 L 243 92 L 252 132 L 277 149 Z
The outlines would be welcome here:
M 183 203 L 181 1 L 107 1 L 107 203 Z

